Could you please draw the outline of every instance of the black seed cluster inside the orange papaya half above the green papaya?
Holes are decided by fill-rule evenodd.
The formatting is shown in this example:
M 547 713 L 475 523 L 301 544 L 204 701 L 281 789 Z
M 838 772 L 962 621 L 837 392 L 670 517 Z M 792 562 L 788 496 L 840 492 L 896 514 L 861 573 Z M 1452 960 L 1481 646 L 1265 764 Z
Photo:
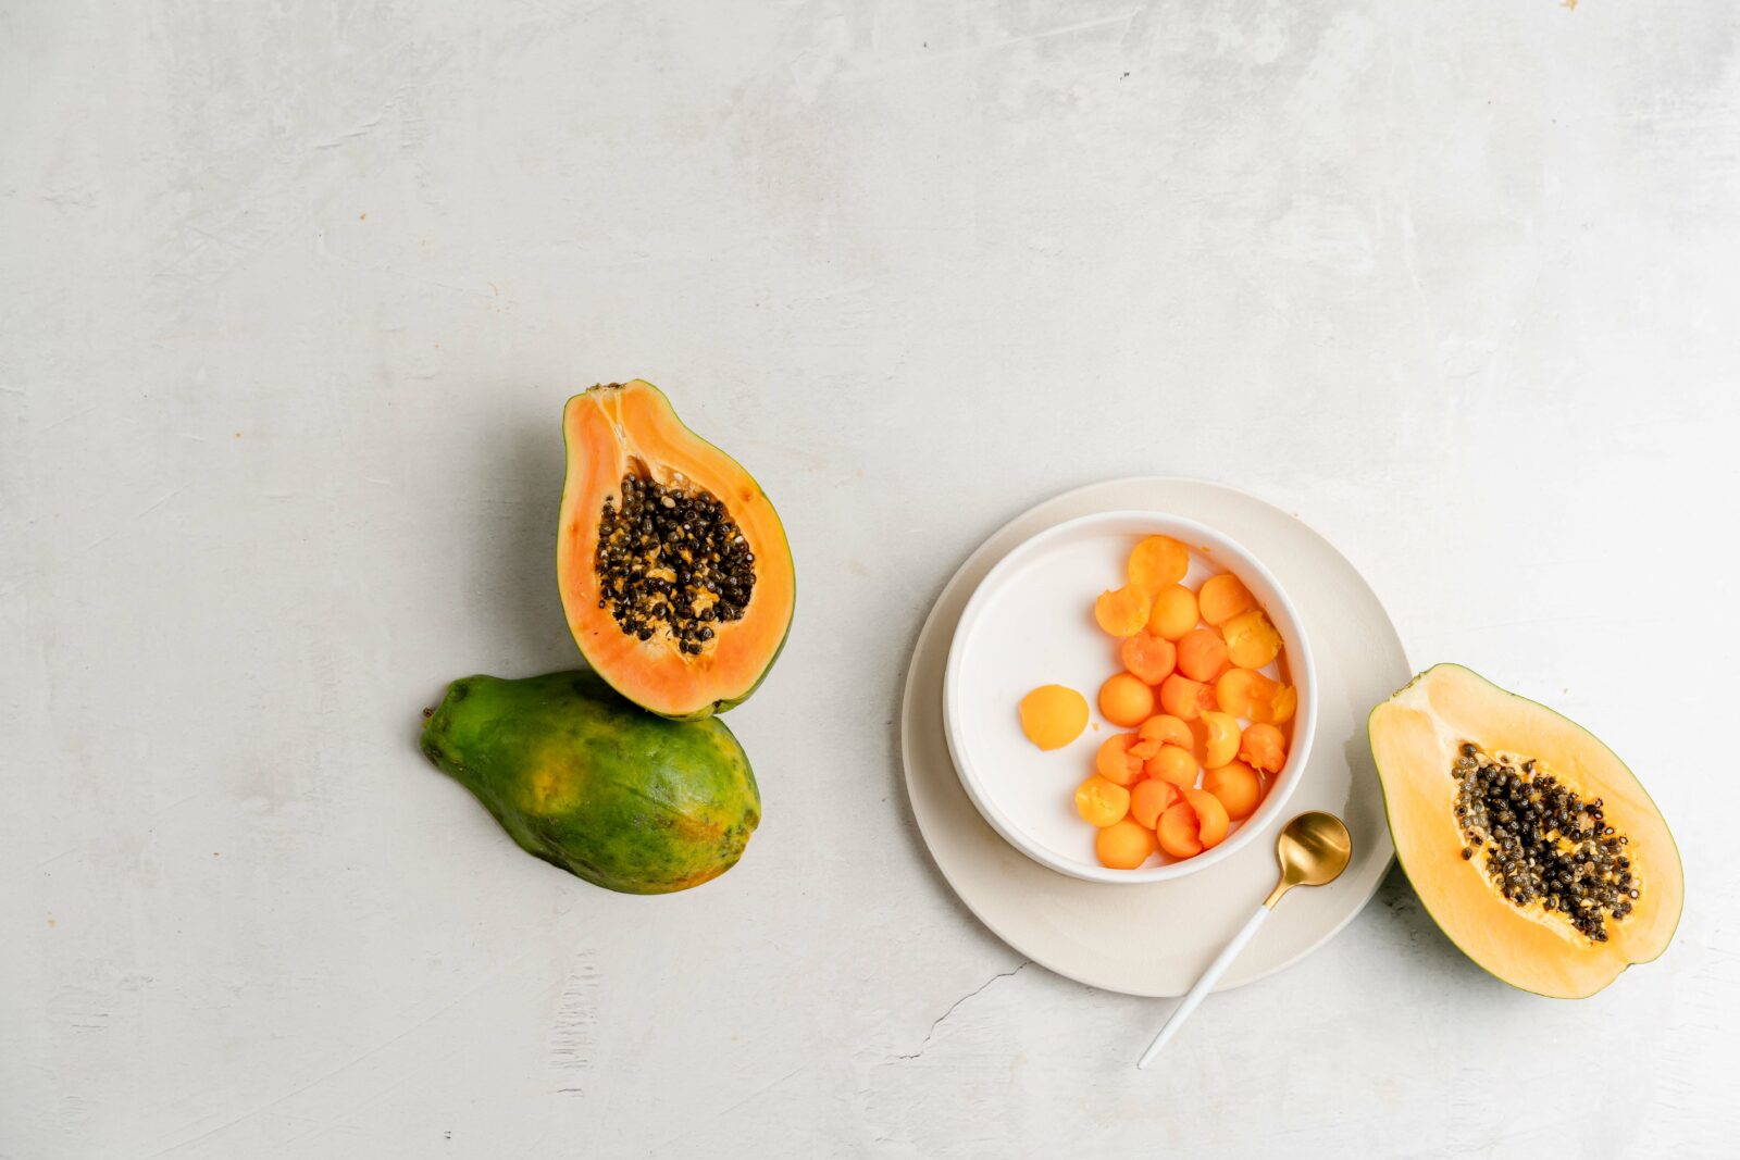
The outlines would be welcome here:
M 621 503 L 599 518 L 599 607 L 639 640 L 670 638 L 699 656 L 713 626 L 743 619 L 755 590 L 755 553 L 726 504 L 680 475 L 670 483 L 630 473 Z

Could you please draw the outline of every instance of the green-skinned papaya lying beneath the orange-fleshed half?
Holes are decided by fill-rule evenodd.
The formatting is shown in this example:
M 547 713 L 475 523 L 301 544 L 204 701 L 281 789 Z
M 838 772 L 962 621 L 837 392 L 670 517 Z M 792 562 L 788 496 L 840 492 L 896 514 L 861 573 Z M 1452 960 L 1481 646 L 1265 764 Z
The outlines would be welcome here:
M 760 823 L 755 774 L 724 722 L 656 717 L 590 671 L 456 680 L 421 746 L 520 849 L 609 890 L 717 878 Z

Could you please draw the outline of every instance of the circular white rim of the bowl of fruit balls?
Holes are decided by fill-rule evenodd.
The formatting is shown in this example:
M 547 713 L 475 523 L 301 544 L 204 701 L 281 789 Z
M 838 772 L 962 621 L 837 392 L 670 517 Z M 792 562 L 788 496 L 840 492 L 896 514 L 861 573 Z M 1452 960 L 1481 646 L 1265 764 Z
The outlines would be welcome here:
M 1136 870 L 1112 870 L 1108 866 L 1091 864 L 1063 857 L 1054 850 L 1041 845 L 1037 840 L 1030 838 L 1014 821 L 997 805 L 994 797 L 988 793 L 988 786 L 983 777 L 973 767 L 966 755 L 966 746 L 955 736 L 955 720 L 964 708 L 960 704 L 960 668 L 966 656 L 966 640 L 971 635 L 971 628 L 978 621 L 990 597 L 1002 586 L 1000 581 L 1007 577 L 1016 567 L 1025 560 L 1044 551 L 1044 548 L 1054 541 L 1077 532 L 1082 527 L 1093 527 L 1100 523 L 1155 523 L 1154 530 L 1147 532 L 1152 536 L 1173 536 L 1174 539 L 1183 539 L 1185 546 L 1199 555 L 1204 555 L 1211 563 L 1221 570 L 1232 572 L 1251 588 L 1249 577 L 1256 577 L 1262 588 L 1272 593 L 1274 600 L 1260 600 L 1262 607 L 1268 612 L 1270 621 L 1281 631 L 1282 645 L 1288 654 L 1288 677 L 1293 687 L 1298 690 L 1298 710 L 1293 717 L 1293 746 L 1288 751 L 1286 765 L 1275 776 L 1275 784 L 1270 788 L 1268 795 L 1263 798 L 1256 812 L 1251 814 L 1239 830 L 1232 833 L 1225 842 L 1211 850 L 1204 850 L 1195 857 L 1187 857 L 1181 863 L 1164 863 L 1161 866 L 1141 866 Z M 1255 593 L 1253 593 L 1255 595 Z M 954 762 L 955 776 L 960 779 L 962 790 L 966 790 L 967 798 L 978 809 L 980 816 L 990 824 L 992 830 L 1002 837 L 1004 842 L 1018 849 L 1021 854 L 1028 856 L 1035 863 L 1047 866 L 1058 873 L 1068 875 L 1072 878 L 1082 878 L 1088 882 L 1103 882 L 1108 885 L 1147 885 L 1155 882 L 1176 882 L 1188 875 L 1199 873 L 1215 866 L 1244 847 L 1248 847 L 1258 833 L 1267 830 L 1270 823 L 1286 809 L 1288 798 L 1293 797 L 1293 790 L 1298 786 L 1303 776 L 1305 765 L 1310 760 L 1312 743 L 1317 736 L 1317 666 L 1312 657 L 1310 640 L 1305 633 L 1305 623 L 1288 597 L 1286 588 L 1275 579 L 1262 560 L 1258 560 L 1249 550 L 1244 548 L 1237 539 L 1220 532 L 1206 523 L 1192 520 L 1188 517 L 1169 515 L 1166 511 L 1141 510 L 1141 508 L 1121 508 L 1115 511 L 1094 511 L 1089 515 L 1081 515 L 1061 523 L 1054 523 L 1042 532 L 1030 536 L 1028 539 L 1016 544 L 1004 555 L 980 581 L 978 588 L 967 598 L 966 607 L 960 610 L 960 619 L 955 623 L 955 630 L 948 642 L 948 661 L 943 668 L 943 737 L 948 743 L 948 757 Z

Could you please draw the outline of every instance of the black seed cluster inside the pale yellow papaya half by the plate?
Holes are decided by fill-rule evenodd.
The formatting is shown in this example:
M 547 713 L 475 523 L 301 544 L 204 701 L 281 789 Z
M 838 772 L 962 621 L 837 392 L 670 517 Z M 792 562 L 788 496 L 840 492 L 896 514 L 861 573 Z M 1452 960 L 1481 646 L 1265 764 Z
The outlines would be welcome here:
M 1456 823 L 1482 854 L 1486 873 L 1517 906 L 1540 903 L 1594 943 L 1608 941 L 1608 922 L 1632 913 L 1639 887 L 1627 847 L 1603 816 L 1603 800 L 1585 802 L 1533 758 L 1491 755 L 1463 743 L 1449 776 L 1458 781 Z

